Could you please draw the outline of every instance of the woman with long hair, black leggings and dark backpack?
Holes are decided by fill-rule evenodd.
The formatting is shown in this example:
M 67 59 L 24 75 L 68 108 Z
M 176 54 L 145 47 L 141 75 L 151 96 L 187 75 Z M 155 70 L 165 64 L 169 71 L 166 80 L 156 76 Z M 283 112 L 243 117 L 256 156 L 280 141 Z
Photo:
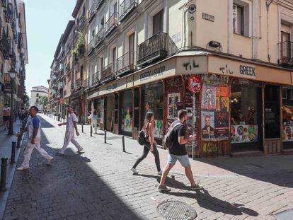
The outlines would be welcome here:
M 151 153 L 154 154 L 156 169 L 158 170 L 158 175 L 162 175 L 159 151 L 156 148 L 157 144 L 156 144 L 156 141 L 154 140 L 155 127 L 156 127 L 156 122 L 154 121 L 154 113 L 147 112 L 145 120 L 144 120 L 144 133 L 146 135 L 147 142 L 146 142 L 146 145 L 144 145 L 144 151 L 142 153 L 142 156 L 139 156 L 139 158 L 137 158 L 137 161 L 134 163 L 134 166 L 131 168 L 133 174 L 138 174 L 136 170 L 137 165 L 139 165 L 139 163 L 142 162 L 144 158 L 146 158 L 146 156 L 149 154 L 149 151 L 151 151 Z

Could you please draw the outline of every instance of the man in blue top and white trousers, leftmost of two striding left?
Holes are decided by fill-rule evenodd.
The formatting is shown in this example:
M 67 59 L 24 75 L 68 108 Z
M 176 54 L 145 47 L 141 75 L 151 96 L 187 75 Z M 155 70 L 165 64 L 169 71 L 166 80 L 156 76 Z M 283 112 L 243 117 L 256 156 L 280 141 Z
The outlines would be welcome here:
M 30 156 L 32 155 L 33 149 L 35 148 L 40 155 L 47 159 L 47 165 L 52 162 L 53 157 L 50 156 L 44 149 L 40 147 L 40 119 L 37 116 L 38 108 L 35 106 L 30 107 L 30 115 L 32 117 L 28 126 L 25 127 L 24 131 L 16 134 L 16 136 L 21 136 L 23 132 L 27 131 L 28 143 L 25 146 L 24 161 L 23 164 L 17 168 L 17 170 L 27 170 L 30 167 Z

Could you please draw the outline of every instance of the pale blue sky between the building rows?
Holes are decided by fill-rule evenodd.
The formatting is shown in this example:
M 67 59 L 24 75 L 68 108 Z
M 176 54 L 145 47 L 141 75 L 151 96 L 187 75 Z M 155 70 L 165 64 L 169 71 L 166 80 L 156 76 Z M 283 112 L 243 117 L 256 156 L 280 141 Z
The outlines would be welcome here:
M 50 66 L 59 39 L 64 33 L 76 0 L 23 0 L 28 37 L 28 64 L 25 66 L 26 92 L 33 86 L 48 87 Z

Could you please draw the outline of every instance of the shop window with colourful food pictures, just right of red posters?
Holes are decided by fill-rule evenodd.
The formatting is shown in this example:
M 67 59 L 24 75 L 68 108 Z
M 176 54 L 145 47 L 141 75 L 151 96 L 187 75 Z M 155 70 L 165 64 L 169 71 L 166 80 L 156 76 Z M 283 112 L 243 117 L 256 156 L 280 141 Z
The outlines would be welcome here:
M 247 81 L 248 84 L 250 81 Z M 260 117 L 261 88 L 257 86 L 231 85 L 231 143 L 249 144 L 260 140 L 259 129 L 262 123 Z

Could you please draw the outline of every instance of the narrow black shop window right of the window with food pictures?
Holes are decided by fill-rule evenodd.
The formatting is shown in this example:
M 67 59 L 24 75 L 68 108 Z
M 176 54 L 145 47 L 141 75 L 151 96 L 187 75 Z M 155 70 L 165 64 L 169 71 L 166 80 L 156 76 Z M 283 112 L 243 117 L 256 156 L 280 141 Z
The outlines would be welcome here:
M 265 138 L 280 138 L 279 86 L 265 86 Z

